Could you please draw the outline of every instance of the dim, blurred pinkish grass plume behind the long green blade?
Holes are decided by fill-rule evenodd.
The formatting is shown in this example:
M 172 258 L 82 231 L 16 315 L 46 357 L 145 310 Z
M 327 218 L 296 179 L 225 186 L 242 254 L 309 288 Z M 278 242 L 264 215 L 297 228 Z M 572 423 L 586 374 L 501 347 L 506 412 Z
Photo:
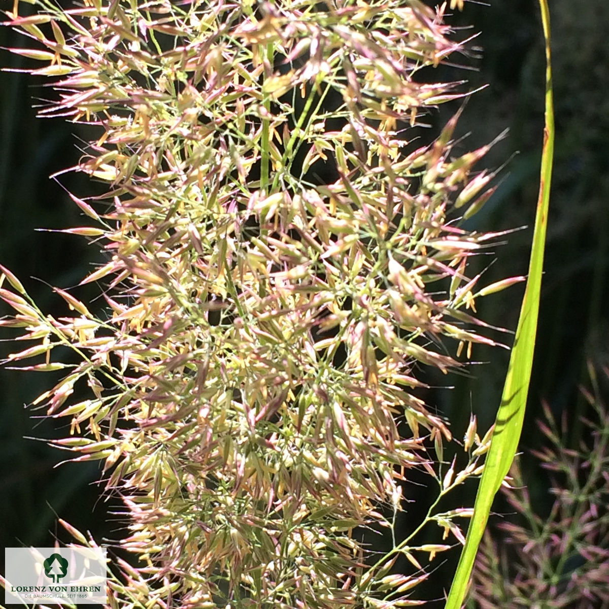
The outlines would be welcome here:
M 481 609 L 609 605 L 609 412 L 604 396 L 609 369 L 597 377 L 590 367 L 592 391 L 582 442 L 568 448 L 566 417 L 558 426 L 548 404 L 540 423 L 547 446 L 532 451 L 551 472 L 554 504 L 547 516 L 532 505 L 519 469 L 513 487 L 504 488 L 519 522 L 498 526 L 487 535 L 474 569 L 472 600 Z

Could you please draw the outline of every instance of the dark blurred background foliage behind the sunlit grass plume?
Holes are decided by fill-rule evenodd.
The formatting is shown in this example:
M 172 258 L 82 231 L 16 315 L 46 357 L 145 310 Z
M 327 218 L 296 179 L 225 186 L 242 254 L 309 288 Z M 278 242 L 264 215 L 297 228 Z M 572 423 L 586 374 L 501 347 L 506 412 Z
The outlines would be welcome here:
M 426 3 L 436 4 L 429 0 Z M 557 141 L 540 327 L 521 443 L 524 452 L 541 442 L 535 421 L 540 417 L 542 398 L 555 416 L 560 418 L 566 412 L 573 421 L 570 442 L 577 445 L 582 428 L 576 421 L 586 409 L 578 385 L 586 380 L 586 359 L 597 364 L 609 361 L 605 306 L 609 253 L 609 64 L 603 59 L 609 3 L 552 0 L 550 9 Z M 505 128 L 509 128 L 509 136 L 491 150 L 485 163 L 495 169 L 518 152 L 502 172 L 496 194 L 469 221 L 470 228 L 479 230 L 528 227 L 507 235 L 505 245 L 476 260 L 479 271 L 493 263 L 485 270 L 482 282 L 490 284 L 527 270 L 543 128 L 543 36 L 534 0 L 491 0 L 490 5 L 466 2 L 463 13 L 449 17 L 449 21 L 463 28 L 456 32 L 460 40 L 481 32 L 468 43 L 470 52 L 462 57 L 462 65 L 469 69 L 440 66 L 437 72 L 426 76 L 434 80 L 467 79 L 471 90 L 490 85 L 467 102 L 456 135 L 469 135 L 454 152 L 488 143 Z M 465 29 L 470 24 L 475 25 Z M 2 27 L 0 46 L 27 46 L 27 40 Z M 2 66 L 13 69 L 23 68 L 27 62 L 6 51 L 0 57 Z M 32 104 L 52 95 L 41 79 L 2 72 L 0 80 L 0 262 L 21 278 L 43 311 L 62 315 L 63 301 L 52 294 L 47 284 L 75 286 L 99 255 L 95 246 L 87 245 L 82 238 L 35 229 L 86 224 L 65 191 L 48 176 L 76 164 L 83 144 L 80 138 L 90 135 L 68 123 L 35 118 Z M 429 132 L 419 133 L 427 136 L 426 141 L 437 135 L 459 107 L 445 106 L 429 115 Z M 60 175 L 58 180 L 79 197 L 91 194 L 93 188 L 79 174 Z M 97 296 L 95 287 L 74 294 L 87 302 Z M 515 329 L 522 295 L 523 287 L 516 286 L 479 300 L 482 319 Z M 0 338 L 9 336 L 3 332 Z M 13 351 L 13 345 L 0 342 L 0 357 Z M 457 438 L 465 432 L 472 410 L 479 418 L 479 429 L 485 430 L 493 422 L 508 357 L 507 351 L 476 345 L 473 363 L 464 375 L 427 375 L 426 381 L 437 389 L 424 397 L 451 421 Z M 420 373 L 426 375 L 423 370 Z M 96 465 L 66 464 L 54 468 L 63 454 L 44 442 L 24 438 L 65 437 L 69 433 L 62 421 L 32 419 L 32 415 L 41 413 L 24 409 L 25 404 L 51 386 L 55 379 L 46 376 L 49 374 L 0 368 L 2 546 L 52 545 L 56 533 L 67 541 L 67 536 L 57 530 L 56 514 L 81 530 L 91 530 L 97 541 L 115 537 L 112 531 L 119 526 L 111 515 L 116 505 L 98 501 Z M 446 389 L 447 385 L 453 389 Z M 546 477 L 533 459 L 521 460 L 521 467 L 524 479 L 529 481 L 533 506 L 540 513 L 547 512 L 552 498 L 547 493 Z M 420 488 L 419 492 L 422 496 L 426 490 Z M 464 487 L 459 498 L 461 505 L 473 505 L 474 492 L 475 488 Z M 410 488 L 405 495 L 414 498 L 413 493 Z M 432 493 L 435 489 L 429 489 L 430 499 Z M 424 501 L 420 504 L 422 507 Z M 418 521 L 417 508 L 407 509 L 407 519 Z M 433 533 L 430 540 L 437 538 L 437 532 Z M 448 589 L 451 565 L 444 565 L 438 569 L 437 577 L 430 578 L 434 584 L 431 596 L 440 596 L 438 585 Z

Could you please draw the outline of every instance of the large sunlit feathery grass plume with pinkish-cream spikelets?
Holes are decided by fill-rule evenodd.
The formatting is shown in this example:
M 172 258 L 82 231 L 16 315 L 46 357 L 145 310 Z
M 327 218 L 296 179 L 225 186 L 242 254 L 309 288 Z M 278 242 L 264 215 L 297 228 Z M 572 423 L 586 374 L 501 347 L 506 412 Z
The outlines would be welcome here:
M 448 544 L 394 538 L 379 557 L 354 531 L 393 529 L 412 468 L 438 500 L 481 471 L 475 420 L 465 470 L 430 458 L 426 441 L 441 461 L 451 433 L 412 393 L 418 365 L 446 373 L 451 352 L 494 344 L 472 329 L 467 273 L 495 235 L 456 222 L 493 192 L 493 174 L 471 173 L 489 146 L 452 152 L 458 113 L 435 142 L 409 141 L 425 108 L 463 95 L 426 82 L 463 51 L 445 5 L 30 3 L 8 15 L 32 40 L 14 52 L 58 93 L 40 114 L 95 125 L 74 169 L 105 194 L 71 195 L 90 222 L 68 232 L 105 252 L 82 283 L 108 309 L 57 289 L 73 313 L 54 319 L 4 269 L 16 315 L 1 323 L 35 341 L 11 362 L 66 371 L 33 403 L 71 418 L 57 445 L 101 460 L 124 499 L 120 544 L 143 566 L 121 563 L 111 605 L 417 604 Z M 320 160 L 329 183 L 312 181 Z M 80 363 L 57 361 L 59 345 Z M 468 513 L 432 509 L 421 526 L 462 541 L 453 519 Z M 412 572 L 391 572 L 400 554 Z

